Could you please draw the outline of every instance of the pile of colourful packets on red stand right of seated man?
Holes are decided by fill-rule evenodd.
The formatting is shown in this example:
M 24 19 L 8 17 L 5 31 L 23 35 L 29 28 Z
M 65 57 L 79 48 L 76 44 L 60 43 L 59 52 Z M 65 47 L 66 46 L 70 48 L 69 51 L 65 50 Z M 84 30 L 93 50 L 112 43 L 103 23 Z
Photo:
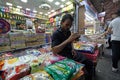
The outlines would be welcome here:
M 97 44 L 94 42 L 76 42 L 73 43 L 73 47 L 79 52 L 93 54 L 97 49 Z

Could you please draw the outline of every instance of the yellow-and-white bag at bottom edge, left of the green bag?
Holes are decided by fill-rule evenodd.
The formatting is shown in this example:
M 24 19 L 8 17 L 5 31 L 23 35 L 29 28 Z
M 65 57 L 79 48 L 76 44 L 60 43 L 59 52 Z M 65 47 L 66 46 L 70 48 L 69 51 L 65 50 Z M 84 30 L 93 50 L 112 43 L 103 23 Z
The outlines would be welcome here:
M 53 80 L 53 78 L 45 71 L 39 71 L 21 78 L 20 80 Z

